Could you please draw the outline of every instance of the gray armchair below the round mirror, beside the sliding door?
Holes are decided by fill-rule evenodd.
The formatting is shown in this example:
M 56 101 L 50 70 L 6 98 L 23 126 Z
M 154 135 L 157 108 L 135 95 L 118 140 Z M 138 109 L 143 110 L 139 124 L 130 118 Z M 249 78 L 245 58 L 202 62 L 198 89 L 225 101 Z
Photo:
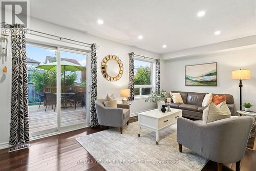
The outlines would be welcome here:
M 123 133 L 123 126 L 129 125 L 130 105 L 117 104 L 117 108 L 106 108 L 104 99 L 95 101 L 96 113 L 100 125 L 120 127 L 120 133 Z

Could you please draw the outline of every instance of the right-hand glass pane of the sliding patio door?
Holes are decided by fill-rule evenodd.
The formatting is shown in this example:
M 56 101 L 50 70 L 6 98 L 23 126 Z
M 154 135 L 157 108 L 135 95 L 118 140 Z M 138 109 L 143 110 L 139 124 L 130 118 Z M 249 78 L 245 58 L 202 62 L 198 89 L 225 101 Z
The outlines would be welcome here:
M 60 126 L 87 123 L 87 54 L 60 50 L 61 96 Z

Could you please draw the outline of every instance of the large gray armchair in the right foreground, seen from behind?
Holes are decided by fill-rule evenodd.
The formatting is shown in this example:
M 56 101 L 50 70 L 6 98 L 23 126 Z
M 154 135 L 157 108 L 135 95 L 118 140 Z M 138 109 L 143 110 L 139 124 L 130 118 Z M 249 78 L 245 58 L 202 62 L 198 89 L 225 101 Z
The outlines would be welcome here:
M 240 160 L 244 156 L 253 118 L 248 116 L 202 124 L 202 121 L 191 121 L 186 118 L 177 120 L 177 142 L 182 152 L 182 145 L 198 155 L 218 163 L 236 162 L 240 169 Z

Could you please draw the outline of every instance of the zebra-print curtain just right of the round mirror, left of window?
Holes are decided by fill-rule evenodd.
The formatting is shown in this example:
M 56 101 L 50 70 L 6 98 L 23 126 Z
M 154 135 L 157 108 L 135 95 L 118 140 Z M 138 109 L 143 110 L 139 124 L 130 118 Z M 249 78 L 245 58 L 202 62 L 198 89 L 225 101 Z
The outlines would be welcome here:
M 134 52 L 129 53 L 129 89 L 130 97 L 129 101 L 134 101 Z

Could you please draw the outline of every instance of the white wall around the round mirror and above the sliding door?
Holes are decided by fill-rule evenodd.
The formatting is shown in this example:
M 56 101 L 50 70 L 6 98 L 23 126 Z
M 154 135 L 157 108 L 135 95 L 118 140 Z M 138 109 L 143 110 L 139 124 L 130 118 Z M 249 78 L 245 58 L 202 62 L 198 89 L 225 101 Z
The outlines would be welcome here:
M 106 40 L 90 34 L 79 32 L 73 29 L 64 28 L 57 26 L 55 24 L 47 23 L 42 20 L 30 19 L 30 29 L 41 31 L 65 38 L 71 38 L 77 41 L 87 42 L 89 44 L 96 43 L 99 46 L 97 48 L 97 72 L 98 72 L 98 98 L 105 98 L 106 94 L 114 93 L 117 97 L 118 102 L 121 102 L 120 90 L 128 88 L 129 82 L 129 52 L 135 52 L 136 54 L 148 56 L 151 58 L 159 58 L 160 55 L 145 51 L 139 48 L 122 45 L 114 41 Z M 28 37 L 33 37 L 27 34 Z M 9 46 L 10 46 L 9 42 Z M 10 49 L 10 48 L 9 48 Z M 118 56 L 124 66 L 124 73 L 122 77 L 116 82 L 110 82 L 103 78 L 100 72 L 100 63 L 103 57 L 109 54 L 114 54 Z M 9 130 L 10 130 L 10 110 L 11 110 L 11 54 L 7 61 L 7 67 L 9 69 L 6 74 L 6 79 L 1 79 L 0 81 L 0 109 L 1 109 L 1 119 L 0 119 L 0 146 L 2 143 L 7 143 L 9 141 Z M 0 65 L 0 78 L 3 77 L 2 73 L 3 63 Z M 2 81 L 3 80 L 3 81 Z M 132 102 L 131 113 L 137 113 L 140 111 L 156 108 L 154 103 L 145 103 L 144 99 L 138 99 Z

